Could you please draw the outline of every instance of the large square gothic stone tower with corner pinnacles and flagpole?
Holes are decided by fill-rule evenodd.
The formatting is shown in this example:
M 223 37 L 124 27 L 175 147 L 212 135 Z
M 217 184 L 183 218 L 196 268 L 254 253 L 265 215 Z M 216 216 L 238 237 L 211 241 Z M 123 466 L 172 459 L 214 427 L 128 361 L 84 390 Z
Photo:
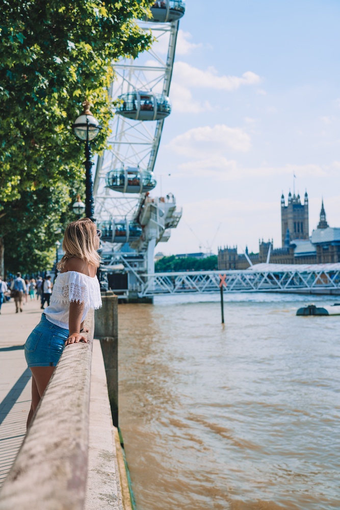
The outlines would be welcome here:
M 284 203 L 284 196 L 281 196 L 281 232 L 282 247 L 285 240 L 287 243 L 287 229 L 289 231 L 290 241 L 294 239 L 309 239 L 308 224 L 308 195 L 305 193 L 304 204 L 300 201 L 300 195 L 292 197 L 292 193 L 288 195 L 288 205 Z

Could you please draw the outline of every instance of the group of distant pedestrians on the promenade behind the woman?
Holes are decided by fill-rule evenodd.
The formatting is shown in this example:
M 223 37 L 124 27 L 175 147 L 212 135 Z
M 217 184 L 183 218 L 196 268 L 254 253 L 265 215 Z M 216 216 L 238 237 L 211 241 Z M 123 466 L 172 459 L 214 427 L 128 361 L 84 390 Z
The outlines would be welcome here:
M 40 299 L 41 309 L 44 309 L 45 303 L 47 306 L 49 305 L 52 288 L 50 276 L 46 276 L 44 279 L 41 276 L 38 276 L 37 279 L 23 279 L 21 273 L 17 272 L 11 282 L 3 281 L 0 276 L 0 314 L 3 302 L 10 300 L 11 297 L 15 302 L 15 313 L 22 312 L 22 307 L 28 303 L 29 296 L 31 300 L 34 300 L 35 296 L 37 300 Z

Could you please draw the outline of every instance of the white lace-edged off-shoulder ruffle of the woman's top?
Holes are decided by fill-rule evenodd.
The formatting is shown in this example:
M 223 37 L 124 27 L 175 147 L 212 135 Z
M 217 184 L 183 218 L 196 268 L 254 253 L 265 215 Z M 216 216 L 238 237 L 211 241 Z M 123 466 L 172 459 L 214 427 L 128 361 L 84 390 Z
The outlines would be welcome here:
M 62 273 L 68 274 L 68 273 Z M 51 295 L 51 303 L 68 304 L 71 301 L 84 303 L 86 308 L 97 310 L 101 307 L 100 287 L 97 278 L 89 278 L 86 282 L 82 273 L 71 275 L 63 282 L 57 276 Z M 71 279 L 75 281 L 70 281 Z

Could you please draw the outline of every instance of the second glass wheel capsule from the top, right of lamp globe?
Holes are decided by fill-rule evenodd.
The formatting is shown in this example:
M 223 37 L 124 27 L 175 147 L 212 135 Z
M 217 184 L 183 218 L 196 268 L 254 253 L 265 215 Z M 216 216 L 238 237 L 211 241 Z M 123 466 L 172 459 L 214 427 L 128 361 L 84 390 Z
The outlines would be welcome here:
M 154 92 L 134 91 L 118 97 L 116 113 L 133 120 L 161 120 L 170 115 L 170 99 Z

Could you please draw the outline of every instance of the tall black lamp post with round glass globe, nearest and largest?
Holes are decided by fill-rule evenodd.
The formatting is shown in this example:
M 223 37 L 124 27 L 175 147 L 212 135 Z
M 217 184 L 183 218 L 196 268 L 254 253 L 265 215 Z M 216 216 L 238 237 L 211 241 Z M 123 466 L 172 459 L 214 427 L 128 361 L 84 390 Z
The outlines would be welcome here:
M 92 161 L 90 142 L 95 139 L 101 129 L 97 120 L 90 112 L 90 103 L 88 100 L 83 103 L 84 111 L 76 121 L 72 128 L 77 139 L 85 142 L 85 168 L 86 168 L 86 198 L 85 198 L 85 215 L 94 221 L 94 200 L 93 200 L 93 181 L 92 181 Z

